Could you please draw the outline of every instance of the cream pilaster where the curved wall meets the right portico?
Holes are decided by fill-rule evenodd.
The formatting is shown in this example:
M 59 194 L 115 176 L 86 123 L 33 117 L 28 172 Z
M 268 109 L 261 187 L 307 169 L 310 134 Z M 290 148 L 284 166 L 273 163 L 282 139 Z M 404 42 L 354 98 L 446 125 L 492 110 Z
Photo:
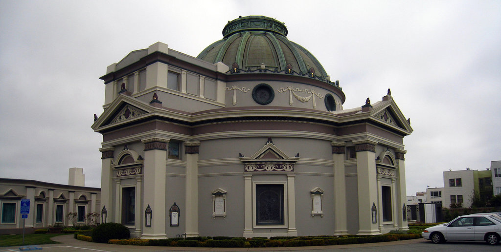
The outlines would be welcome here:
M 345 145 L 332 141 L 332 159 L 334 160 L 334 235 L 348 234 L 346 222 L 346 177 L 345 177 Z

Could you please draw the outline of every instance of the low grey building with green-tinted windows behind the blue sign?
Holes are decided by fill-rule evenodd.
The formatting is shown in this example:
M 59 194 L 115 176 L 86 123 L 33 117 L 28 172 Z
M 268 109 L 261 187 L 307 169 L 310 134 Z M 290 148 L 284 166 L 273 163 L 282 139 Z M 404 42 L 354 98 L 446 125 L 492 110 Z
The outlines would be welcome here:
M 25 220 L 28 233 L 54 225 L 85 225 L 86 214 L 101 210 L 100 191 L 95 187 L 0 178 L 0 234 L 22 233 L 21 199 L 30 199 L 30 213 Z M 69 212 L 77 213 L 74 222 L 67 218 Z

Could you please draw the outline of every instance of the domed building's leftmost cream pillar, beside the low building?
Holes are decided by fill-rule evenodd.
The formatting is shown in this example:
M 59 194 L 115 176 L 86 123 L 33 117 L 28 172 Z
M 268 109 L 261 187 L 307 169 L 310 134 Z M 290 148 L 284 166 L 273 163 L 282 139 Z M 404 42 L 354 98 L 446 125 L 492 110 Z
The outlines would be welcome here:
M 108 222 L 114 221 L 113 214 L 113 174 L 112 174 L 112 161 L 113 161 L 113 150 L 115 147 L 108 146 L 100 148 L 99 151 L 102 152 L 101 156 L 101 205 L 99 206 L 98 212 L 101 213 L 103 207 L 107 210 Z M 118 208 L 120 205 L 117 205 Z

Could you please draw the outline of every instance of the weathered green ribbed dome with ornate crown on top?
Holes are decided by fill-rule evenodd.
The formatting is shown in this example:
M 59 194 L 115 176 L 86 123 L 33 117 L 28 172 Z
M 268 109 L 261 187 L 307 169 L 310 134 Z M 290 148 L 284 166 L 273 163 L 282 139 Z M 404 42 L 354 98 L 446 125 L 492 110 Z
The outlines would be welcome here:
M 311 68 L 321 79 L 327 73 L 320 62 L 303 46 L 287 39 L 287 27 L 283 22 L 266 16 L 238 17 L 224 26 L 223 38 L 203 49 L 197 58 L 216 63 L 223 62 L 232 68 L 233 63 L 240 69 L 266 68 L 279 71 L 292 70 L 306 74 Z

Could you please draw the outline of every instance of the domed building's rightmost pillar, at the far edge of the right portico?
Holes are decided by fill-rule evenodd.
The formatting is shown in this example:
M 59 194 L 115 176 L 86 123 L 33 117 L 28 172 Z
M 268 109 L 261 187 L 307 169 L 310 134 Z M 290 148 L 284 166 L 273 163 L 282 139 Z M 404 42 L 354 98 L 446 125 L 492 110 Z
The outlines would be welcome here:
M 405 158 L 404 154 L 407 152 L 407 150 L 404 149 L 396 149 L 395 153 L 397 156 L 397 162 L 398 162 L 398 168 L 396 171 L 396 176 L 397 176 L 397 181 L 396 181 L 396 186 L 398 190 L 398 194 L 396 195 L 397 201 L 395 202 L 398 205 L 398 209 L 400 209 L 398 212 L 399 216 L 399 229 L 401 230 L 408 230 L 409 227 L 407 226 L 407 221 L 404 221 L 403 217 L 403 211 L 401 207 L 407 202 L 407 197 L 406 197 L 406 190 L 405 190 Z M 407 217 L 405 217 L 407 219 Z

